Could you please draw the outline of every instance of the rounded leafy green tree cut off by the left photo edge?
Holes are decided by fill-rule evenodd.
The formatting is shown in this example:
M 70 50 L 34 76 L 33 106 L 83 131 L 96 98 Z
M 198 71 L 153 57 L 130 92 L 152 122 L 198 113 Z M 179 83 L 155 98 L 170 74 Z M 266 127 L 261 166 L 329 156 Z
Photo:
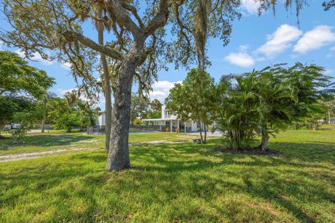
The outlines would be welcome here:
M 43 99 L 52 85 L 54 79 L 45 71 L 28 66 L 13 52 L 0 51 L 0 129 L 8 122 L 14 122 L 13 118 L 22 111 L 27 114 L 40 112 L 35 102 Z M 27 130 L 30 127 L 22 125 Z

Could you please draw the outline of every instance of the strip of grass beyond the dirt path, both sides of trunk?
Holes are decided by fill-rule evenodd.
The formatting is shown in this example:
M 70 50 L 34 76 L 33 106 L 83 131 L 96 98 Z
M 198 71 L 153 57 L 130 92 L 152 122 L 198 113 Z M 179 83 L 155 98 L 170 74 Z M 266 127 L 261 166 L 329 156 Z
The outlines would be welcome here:
M 165 132 L 129 134 L 129 143 L 141 143 L 146 141 L 186 141 L 186 134 Z M 0 140 L 0 155 L 32 153 L 42 151 L 55 151 L 58 149 L 77 148 L 103 148 L 105 146 L 105 134 L 88 135 L 82 132 L 65 133 L 29 133 L 18 144 L 13 144 L 12 139 Z

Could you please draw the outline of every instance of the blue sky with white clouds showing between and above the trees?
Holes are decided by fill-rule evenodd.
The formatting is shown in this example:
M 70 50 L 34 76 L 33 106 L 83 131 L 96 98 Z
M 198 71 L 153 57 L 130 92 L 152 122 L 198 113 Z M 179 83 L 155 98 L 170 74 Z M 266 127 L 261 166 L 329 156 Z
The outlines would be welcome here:
M 276 6 L 276 15 L 269 10 L 258 17 L 258 5 L 253 0 L 244 0 L 241 5 L 243 16 L 233 22 L 230 43 L 223 47 L 219 39 L 210 39 L 207 45 L 207 56 L 211 66 L 207 72 L 216 82 L 222 75 L 248 72 L 262 69 L 276 63 L 296 62 L 316 63 L 324 67 L 327 75 L 335 77 L 335 8 L 324 11 L 322 1 L 308 1 L 300 11 L 299 25 L 295 8 L 285 10 L 282 3 Z M 8 24 L 0 15 L 0 27 L 8 29 Z M 96 40 L 96 33 L 90 24 L 84 25 L 84 34 Z M 20 53 L 19 49 L 8 48 L 0 43 L 0 50 Z M 23 55 L 22 55 L 23 56 Z M 44 61 L 39 54 L 36 61 L 29 61 L 31 66 L 45 70 L 56 79 L 50 91 L 62 96 L 66 91 L 75 89 L 75 82 L 70 75 L 70 63 Z M 188 72 L 184 68 L 174 69 L 173 64 L 167 65 L 169 70 L 158 72 L 158 82 L 154 83 L 150 93 L 151 100 L 157 98 L 164 101 L 174 83 L 182 81 Z M 133 92 L 135 92 L 135 86 Z M 98 107 L 105 109 L 105 100 L 101 96 Z

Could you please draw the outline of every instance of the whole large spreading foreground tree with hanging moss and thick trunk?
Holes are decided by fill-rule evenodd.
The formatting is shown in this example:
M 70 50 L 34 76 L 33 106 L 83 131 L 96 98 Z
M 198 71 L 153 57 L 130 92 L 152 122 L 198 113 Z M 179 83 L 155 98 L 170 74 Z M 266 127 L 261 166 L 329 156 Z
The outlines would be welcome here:
M 257 1 L 261 3 L 260 13 L 277 2 Z M 109 170 L 130 167 L 128 129 L 133 78 L 139 77 L 140 90 L 149 91 L 157 71 L 165 68 L 164 58 L 174 61 L 177 67 L 188 67 L 194 62 L 195 54 L 204 54 L 207 39 L 218 37 L 224 45 L 228 44 L 232 20 L 241 17 L 240 0 L 160 0 L 142 1 L 141 5 L 139 1 L 121 0 L 3 2 L 3 13 L 11 30 L 2 33 L 1 40 L 24 49 L 30 57 L 38 52 L 45 59 L 70 61 L 73 74 L 82 77 L 87 88 L 94 82 L 91 70 L 96 54 L 104 54 L 115 61 Z M 305 1 L 285 0 L 286 8 L 292 2 L 296 3 L 299 14 Z M 99 35 L 96 43 L 84 36 L 82 26 L 90 24 L 88 20 L 91 24 L 97 23 L 100 34 L 107 33 L 101 29 L 108 31 L 110 38 L 105 40 Z M 172 43 L 164 38 L 165 27 L 176 37 Z M 46 50 L 53 50 L 57 55 L 50 56 Z

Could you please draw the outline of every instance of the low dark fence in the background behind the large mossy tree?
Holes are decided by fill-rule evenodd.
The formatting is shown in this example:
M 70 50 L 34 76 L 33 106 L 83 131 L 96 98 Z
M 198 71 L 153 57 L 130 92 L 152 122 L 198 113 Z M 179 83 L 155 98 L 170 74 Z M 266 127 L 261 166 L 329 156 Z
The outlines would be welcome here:
M 135 132 L 165 132 L 165 125 L 131 125 L 129 133 Z M 87 128 L 87 134 L 104 134 L 106 133 L 105 125 L 93 125 Z

